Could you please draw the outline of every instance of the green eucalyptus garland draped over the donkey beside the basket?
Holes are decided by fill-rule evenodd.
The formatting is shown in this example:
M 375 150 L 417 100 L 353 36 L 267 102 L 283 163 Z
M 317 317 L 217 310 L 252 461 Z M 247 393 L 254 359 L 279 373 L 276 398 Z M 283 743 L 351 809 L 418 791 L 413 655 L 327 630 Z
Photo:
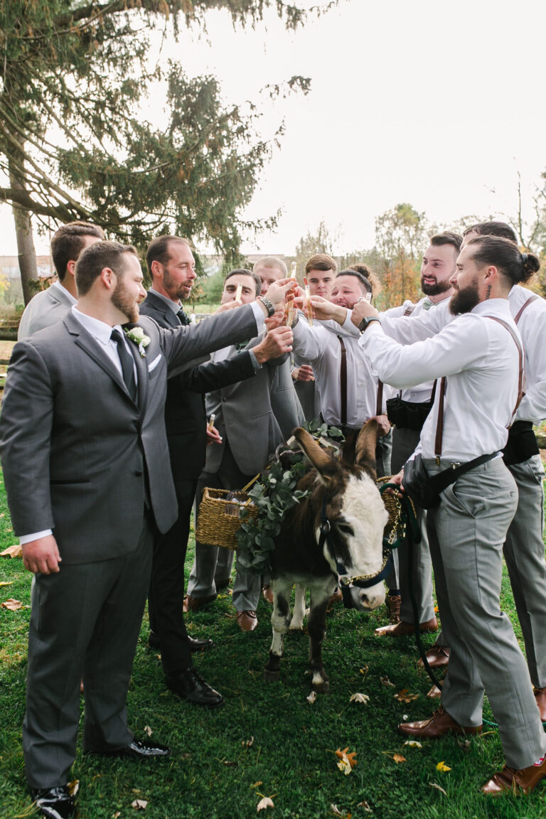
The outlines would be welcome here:
M 328 427 L 320 419 L 305 423 L 303 427 L 326 446 L 331 441 L 341 443 L 344 440 L 340 429 Z M 237 568 L 260 574 L 270 570 L 275 538 L 281 533 L 285 514 L 309 495 L 309 491 L 296 489 L 309 464 L 303 451 L 291 450 L 291 442 L 292 439 L 279 447 L 273 462 L 248 493 L 258 515 L 243 520 L 237 532 Z

